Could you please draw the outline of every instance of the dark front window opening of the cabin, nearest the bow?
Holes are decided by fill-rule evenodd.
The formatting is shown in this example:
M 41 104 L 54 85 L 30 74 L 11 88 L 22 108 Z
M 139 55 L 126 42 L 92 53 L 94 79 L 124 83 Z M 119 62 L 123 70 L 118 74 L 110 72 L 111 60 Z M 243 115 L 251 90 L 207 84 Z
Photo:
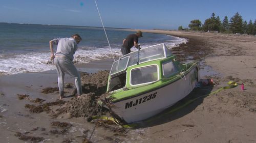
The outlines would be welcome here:
M 110 79 L 109 91 L 115 91 L 123 88 L 126 82 L 126 72 L 113 76 Z

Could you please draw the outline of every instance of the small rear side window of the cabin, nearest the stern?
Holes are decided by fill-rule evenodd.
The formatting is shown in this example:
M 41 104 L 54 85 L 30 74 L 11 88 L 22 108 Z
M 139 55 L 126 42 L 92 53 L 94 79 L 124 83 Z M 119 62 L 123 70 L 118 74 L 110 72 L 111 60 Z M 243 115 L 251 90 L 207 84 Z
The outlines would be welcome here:
M 163 63 L 163 76 L 170 77 L 178 72 L 178 68 L 172 61 L 167 61 Z

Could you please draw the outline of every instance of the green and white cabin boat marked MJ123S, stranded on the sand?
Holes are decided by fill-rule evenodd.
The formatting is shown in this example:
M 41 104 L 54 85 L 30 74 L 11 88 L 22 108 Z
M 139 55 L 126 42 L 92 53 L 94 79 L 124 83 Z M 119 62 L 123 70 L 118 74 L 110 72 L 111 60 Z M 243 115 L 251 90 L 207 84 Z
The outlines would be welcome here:
M 109 108 L 127 123 L 150 118 L 187 96 L 198 70 L 197 62 L 180 64 L 164 44 L 121 56 L 109 75 Z

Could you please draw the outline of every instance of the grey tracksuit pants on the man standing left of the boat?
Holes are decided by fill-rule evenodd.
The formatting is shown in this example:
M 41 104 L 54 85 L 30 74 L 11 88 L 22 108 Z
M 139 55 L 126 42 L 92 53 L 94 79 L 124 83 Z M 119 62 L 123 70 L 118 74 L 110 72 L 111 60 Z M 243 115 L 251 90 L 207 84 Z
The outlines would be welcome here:
M 64 95 L 64 76 L 65 73 L 75 78 L 75 85 L 77 90 L 77 95 L 82 94 L 81 87 L 81 78 L 80 74 L 77 71 L 76 67 L 72 63 L 71 60 L 63 59 L 63 58 L 55 58 L 54 64 L 56 66 L 57 74 L 58 74 L 58 87 L 59 87 L 59 95 Z

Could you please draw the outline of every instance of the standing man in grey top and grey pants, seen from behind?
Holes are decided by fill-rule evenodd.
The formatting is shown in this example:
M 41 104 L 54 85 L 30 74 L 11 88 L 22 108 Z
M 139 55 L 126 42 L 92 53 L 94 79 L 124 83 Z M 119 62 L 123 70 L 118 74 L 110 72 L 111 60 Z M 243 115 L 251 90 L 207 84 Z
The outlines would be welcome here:
M 78 34 L 75 34 L 71 38 L 56 38 L 49 42 L 51 50 L 50 58 L 51 60 L 55 59 L 54 64 L 58 74 L 59 99 L 62 99 L 64 96 L 63 84 L 65 73 L 75 78 L 77 98 L 79 98 L 82 94 L 80 74 L 72 63 L 74 59 L 74 53 L 77 50 L 77 44 L 81 40 L 82 38 Z M 57 45 L 57 51 L 55 55 L 53 45 Z

